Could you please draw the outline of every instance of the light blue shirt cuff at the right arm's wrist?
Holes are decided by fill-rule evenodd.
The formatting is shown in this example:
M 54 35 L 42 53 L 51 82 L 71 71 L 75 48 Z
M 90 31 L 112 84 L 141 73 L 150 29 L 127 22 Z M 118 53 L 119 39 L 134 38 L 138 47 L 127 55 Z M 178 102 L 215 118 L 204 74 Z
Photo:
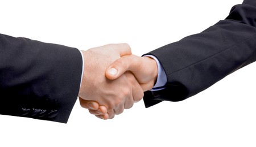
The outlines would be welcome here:
M 166 88 L 167 76 L 166 72 L 164 72 L 163 66 L 160 64 L 159 60 L 154 55 L 144 55 L 144 57 L 145 56 L 153 58 L 158 65 L 158 79 L 156 80 L 156 83 L 154 87 L 151 89 L 151 91 L 158 91 Z

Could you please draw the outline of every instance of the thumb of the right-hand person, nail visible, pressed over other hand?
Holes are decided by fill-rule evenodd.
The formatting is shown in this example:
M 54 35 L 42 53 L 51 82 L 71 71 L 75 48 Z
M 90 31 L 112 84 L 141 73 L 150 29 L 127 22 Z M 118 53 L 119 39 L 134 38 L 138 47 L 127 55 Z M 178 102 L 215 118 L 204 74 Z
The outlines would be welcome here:
M 125 74 L 126 71 L 137 71 L 139 68 L 139 57 L 136 55 L 127 55 L 115 60 L 106 69 L 105 75 L 110 80 L 115 80 Z

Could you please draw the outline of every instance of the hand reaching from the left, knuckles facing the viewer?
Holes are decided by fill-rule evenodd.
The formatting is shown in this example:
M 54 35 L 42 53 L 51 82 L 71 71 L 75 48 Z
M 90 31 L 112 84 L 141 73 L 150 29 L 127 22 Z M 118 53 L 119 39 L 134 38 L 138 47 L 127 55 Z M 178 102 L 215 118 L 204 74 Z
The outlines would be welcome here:
M 134 101 L 140 101 L 143 98 L 143 90 L 130 72 L 124 72 L 125 74 L 116 80 L 109 80 L 105 76 L 106 68 L 114 60 L 131 54 L 129 45 L 110 44 L 82 51 L 82 54 L 85 59 L 84 75 L 79 91 L 82 107 L 89 108 L 86 104 L 90 101 L 97 102 L 99 108 L 108 111 L 108 118 L 114 118 L 115 114 L 121 114 L 124 109 L 130 109 Z M 89 111 L 93 114 L 98 112 L 93 109 Z M 107 118 L 105 111 L 101 114 L 104 114 L 104 119 Z

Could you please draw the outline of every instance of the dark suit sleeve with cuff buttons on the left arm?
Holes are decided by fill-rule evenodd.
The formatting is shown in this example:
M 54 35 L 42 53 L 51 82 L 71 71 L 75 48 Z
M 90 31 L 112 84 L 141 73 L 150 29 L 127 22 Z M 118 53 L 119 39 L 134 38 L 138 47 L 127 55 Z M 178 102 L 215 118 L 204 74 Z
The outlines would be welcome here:
M 0 114 L 67 123 L 81 72 L 75 48 L 0 34 Z

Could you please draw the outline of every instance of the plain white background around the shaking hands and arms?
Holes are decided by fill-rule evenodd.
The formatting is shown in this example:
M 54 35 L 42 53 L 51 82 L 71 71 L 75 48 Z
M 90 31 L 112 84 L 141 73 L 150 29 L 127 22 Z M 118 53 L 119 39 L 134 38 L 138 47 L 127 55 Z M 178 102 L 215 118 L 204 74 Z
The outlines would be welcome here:
M 78 49 L 126 42 L 142 55 L 199 33 L 242 0 L 0 1 L 0 32 Z M 86 60 L 86 59 L 85 59 Z M 256 64 L 182 102 L 143 101 L 101 120 L 77 101 L 67 124 L 0 115 L 0 146 L 255 146 Z

